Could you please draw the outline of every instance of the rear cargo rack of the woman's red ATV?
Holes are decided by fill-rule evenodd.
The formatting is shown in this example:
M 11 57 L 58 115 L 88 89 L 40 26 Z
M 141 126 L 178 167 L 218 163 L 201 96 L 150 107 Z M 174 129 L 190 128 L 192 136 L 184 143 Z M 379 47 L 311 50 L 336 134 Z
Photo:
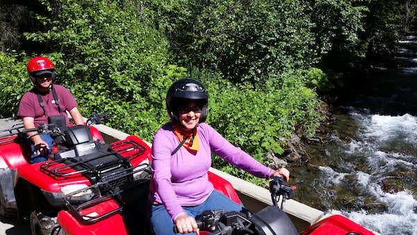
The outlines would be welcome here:
M 68 193 L 64 198 L 65 206 L 67 206 L 67 209 L 73 216 L 76 216 L 85 224 L 99 222 L 113 216 L 115 213 L 122 212 L 124 202 L 121 193 L 123 193 L 124 189 L 120 187 L 113 188 L 112 181 L 117 181 L 129 175 L 133 176 L 140 172 L 148 172 L 150 174 L 149 164 L 142 163 L 136 166 L 132 172 L 126 173 L 126 175 L 119 175 L 108 181 L 100 181 L 92 186 Z M 139 183 L 144 181 L 149 181 L 149 179 L 138 180 Z M 100 188 L 103 187 L 111 188 L 106 195 L 101 194 Z M 91 200 L 80 203 L 78 199 L 88 194 L 93 194 L 94 196 L 92 196 Z

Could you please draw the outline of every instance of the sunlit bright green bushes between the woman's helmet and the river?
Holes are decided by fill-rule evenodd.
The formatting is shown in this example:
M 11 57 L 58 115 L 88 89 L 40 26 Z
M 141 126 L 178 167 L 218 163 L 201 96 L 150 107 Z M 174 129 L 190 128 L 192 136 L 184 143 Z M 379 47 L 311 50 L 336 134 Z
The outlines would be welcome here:
M 209 77 L 204 76 L 204 72 L 201 74 Z M 318 99 L 300 82 L 303 74 L 281 74 L 280 86 L 267 83 L 262 90 L 253 90 L 245 84 L 235 86 L 224 79 L 199 77 L 210 94 L 208 122 L 224 138 L 258 161 L 268 164 L 265 162 L 268 150 L 281 154 L 284 140 L 295 131 L 302 136 L 312 136 L 318 127 L 321 119 L 316 111 Z M 220 159 L 215 159 L 213 165 L 254 180 Z

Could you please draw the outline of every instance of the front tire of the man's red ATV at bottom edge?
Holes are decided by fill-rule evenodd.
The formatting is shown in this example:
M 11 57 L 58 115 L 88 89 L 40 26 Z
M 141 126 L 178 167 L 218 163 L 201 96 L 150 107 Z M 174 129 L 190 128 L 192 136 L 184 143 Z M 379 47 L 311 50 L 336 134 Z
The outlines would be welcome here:
M 63 230 L 56 222 L 56 217 L 46 216 L 42 211 L 32 211 L 30 222 L 32 235 L 63 234 Z

